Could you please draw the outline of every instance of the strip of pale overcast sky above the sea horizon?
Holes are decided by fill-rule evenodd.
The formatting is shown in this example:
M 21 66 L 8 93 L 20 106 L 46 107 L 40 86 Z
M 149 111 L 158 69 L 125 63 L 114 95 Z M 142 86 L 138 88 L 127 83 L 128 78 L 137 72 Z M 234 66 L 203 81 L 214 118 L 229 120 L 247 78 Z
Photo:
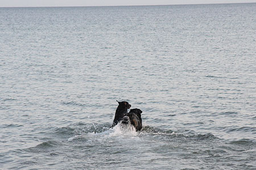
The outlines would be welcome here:
M 256 2 L 256 0 L 0 0 L 0 7 L 127 6 L 245 2 Z

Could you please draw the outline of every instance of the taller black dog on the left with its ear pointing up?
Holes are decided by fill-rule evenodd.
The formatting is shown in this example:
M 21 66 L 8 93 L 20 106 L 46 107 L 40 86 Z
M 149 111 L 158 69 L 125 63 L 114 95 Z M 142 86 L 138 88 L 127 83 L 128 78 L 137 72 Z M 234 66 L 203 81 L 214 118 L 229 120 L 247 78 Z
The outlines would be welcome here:
M 119 121 L 125 117 L 125 115 L 128 113 L 127 109 L 131 108 L 131 105 L 127 101 L 118 102 L 117 110 L 115 110 L 115 118 L 113 121 L 112 128 L 118 124 Z

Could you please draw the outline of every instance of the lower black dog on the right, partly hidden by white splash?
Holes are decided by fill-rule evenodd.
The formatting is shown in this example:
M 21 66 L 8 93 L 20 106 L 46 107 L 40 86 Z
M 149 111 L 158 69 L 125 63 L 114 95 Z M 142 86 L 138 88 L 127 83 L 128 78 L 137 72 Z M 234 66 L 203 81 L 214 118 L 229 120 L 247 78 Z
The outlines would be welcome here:
M 142 129 L 142 119 L 141 119 L 141 109 L 131 109 L 129 113 L 125 115 L 122 119 L 122 124 L 129 124 L 134 126 L 136 131 Z

